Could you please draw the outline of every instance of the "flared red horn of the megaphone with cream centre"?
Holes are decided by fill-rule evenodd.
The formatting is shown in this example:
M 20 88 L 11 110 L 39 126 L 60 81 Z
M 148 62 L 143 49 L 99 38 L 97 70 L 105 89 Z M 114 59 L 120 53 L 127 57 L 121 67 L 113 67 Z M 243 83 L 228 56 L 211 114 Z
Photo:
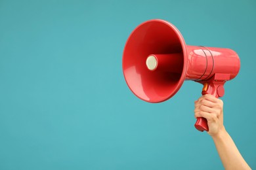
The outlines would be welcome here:
M 158 103 L 175 95 L 186 76 L 186 44 L 179 30 L 164 20 L 140 24 L 123 51 L 123 74 L 135 95 Z

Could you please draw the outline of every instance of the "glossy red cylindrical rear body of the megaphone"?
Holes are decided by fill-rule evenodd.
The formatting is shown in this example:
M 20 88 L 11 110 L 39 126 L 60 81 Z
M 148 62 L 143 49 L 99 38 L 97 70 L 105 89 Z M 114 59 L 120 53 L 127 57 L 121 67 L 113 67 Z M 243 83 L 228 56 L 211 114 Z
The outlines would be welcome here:
M 186 46 L 188 50 L 188 71 L 186 80 L 209 80 L 215 73 L 238 75 L 240 59 L 228 48 Z

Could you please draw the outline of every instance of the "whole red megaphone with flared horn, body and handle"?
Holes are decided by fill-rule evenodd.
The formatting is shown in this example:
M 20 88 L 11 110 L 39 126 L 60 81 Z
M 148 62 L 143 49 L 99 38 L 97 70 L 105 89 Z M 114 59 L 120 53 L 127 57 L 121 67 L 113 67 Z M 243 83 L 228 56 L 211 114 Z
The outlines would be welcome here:
M 224 83 L 240 70 L 236 52 L 188 46 L 179 30 L 165 20 L 148 20 L 133 30 L 123 50 L 122 64 L 130 90 L 150 103 L 173 97 L 184 80 L 203 84 L 203 95 L 222 97 Z M 205 118 L 198 118 L 195 127 L 209 130 Z

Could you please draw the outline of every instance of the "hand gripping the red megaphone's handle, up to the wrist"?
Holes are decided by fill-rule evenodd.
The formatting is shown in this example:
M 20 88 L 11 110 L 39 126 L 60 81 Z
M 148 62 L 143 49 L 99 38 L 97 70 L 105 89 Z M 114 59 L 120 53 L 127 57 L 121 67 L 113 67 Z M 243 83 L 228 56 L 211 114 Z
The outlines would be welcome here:
M 207 119 L 209 135 L 212 137 L 224 130 L 223 125 L 223 101 L 213 95 L 202 95 L 195 101 L 195 117 Z

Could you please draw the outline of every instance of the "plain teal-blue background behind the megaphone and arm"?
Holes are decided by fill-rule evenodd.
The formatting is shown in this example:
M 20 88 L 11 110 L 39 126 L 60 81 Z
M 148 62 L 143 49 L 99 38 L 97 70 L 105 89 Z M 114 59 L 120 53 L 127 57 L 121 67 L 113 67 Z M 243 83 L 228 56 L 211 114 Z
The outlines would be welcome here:
M 223 169 L 194 128 L 202 85 L 186 81 L 152 104 L 125 83 L 127 37 L 154 18 L 187 44 L 239 54 L 224 125 L 255 169 L 255 9 L 253 0 L 0 0 L 0 169 Z

